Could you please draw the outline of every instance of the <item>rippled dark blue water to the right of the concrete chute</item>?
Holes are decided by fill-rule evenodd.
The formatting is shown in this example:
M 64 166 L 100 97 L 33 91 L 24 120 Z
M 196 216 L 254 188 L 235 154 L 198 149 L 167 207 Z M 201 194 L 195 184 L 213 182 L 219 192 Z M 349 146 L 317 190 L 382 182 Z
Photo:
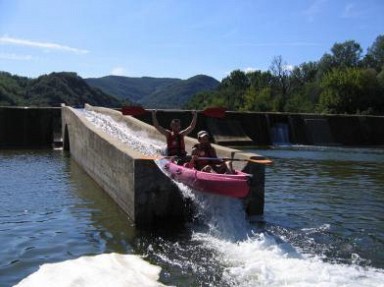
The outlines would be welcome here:
M 274 159 L 266 173 L 267 223 L 289 230 L 291 241 L 326 260 L 384 268 L 384 150 L 257 152 Z

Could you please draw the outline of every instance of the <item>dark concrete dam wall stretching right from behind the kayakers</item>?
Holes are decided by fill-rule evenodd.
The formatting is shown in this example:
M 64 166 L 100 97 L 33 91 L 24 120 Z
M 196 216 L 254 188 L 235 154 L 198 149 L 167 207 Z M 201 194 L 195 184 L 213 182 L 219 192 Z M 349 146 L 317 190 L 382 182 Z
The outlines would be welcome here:
M 185 111 L 159 111 L 161 125 L 168 126 L 172 118 L 180 118 L 184 126 L 191 116 Z M 150 114 L 137 116 L 138 119 L 152 123 Z M 226 112 L 224 119 L 227 130 L 237 130 L 238 134 L 227 135 L 220 129 L 220 123 L 212 127 L 216 119 L 199 115 L 193 137 L 200 129 L 208 130 L 216 143 L 228 145 L 271 145 L 271 131 L 278 124 L 288 127 L 289 143 L 301 145 L 345 145 L 345 146 L 381 146 L 384 145 L 383 116 L 355 115 L 316 115 L 289 113 Z M 217 121 L 217 120 L 216 120 Z M 236 125 L 231 125 L 236 123 Z M 239 131 L 239 126 L 241 130 Z M 222 140 L 224 139 L 224 140 Z M 251 141 L 249 141 L 249 139 Z

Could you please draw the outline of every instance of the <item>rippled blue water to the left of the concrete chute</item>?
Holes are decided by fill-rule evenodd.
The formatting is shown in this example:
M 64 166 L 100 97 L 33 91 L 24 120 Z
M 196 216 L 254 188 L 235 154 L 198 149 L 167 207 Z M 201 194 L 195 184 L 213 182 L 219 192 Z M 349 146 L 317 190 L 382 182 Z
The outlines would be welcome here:
M 131 223 L 61 151 L 0 151 L 0 286 L 43 263 L 129 252 Z

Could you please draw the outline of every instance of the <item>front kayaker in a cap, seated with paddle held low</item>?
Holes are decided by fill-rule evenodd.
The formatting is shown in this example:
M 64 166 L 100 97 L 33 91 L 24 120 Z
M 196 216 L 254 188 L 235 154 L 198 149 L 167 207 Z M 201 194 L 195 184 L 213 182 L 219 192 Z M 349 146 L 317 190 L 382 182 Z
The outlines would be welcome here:
M 192 148 L 192 159 L 187 163 L 187 167 L 195 168 L 205 172 L 216 173 L 233 173 L 232 163 L 228 165 L 224 161 L 201 159 L 201 158 L 217 158 L 216 150 L 211 145 L 209 134 L 206 131 L 199 131 L 197 133 L 199 143 L 195 144 Z M 200 158 L 200 159 L 199 159 Z

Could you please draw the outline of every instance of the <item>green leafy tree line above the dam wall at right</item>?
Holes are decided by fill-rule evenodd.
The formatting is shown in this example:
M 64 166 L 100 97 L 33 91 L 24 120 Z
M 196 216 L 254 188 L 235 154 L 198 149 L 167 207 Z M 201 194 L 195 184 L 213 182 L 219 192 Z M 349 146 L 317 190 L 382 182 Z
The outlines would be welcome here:
M 359 43 L 335 43 L 319 61 L 289 67 L 276 56 L 268 71 L 234 70 L 186 108 L 331 114 L 384 113 L 384 35 L 363 55 Z

